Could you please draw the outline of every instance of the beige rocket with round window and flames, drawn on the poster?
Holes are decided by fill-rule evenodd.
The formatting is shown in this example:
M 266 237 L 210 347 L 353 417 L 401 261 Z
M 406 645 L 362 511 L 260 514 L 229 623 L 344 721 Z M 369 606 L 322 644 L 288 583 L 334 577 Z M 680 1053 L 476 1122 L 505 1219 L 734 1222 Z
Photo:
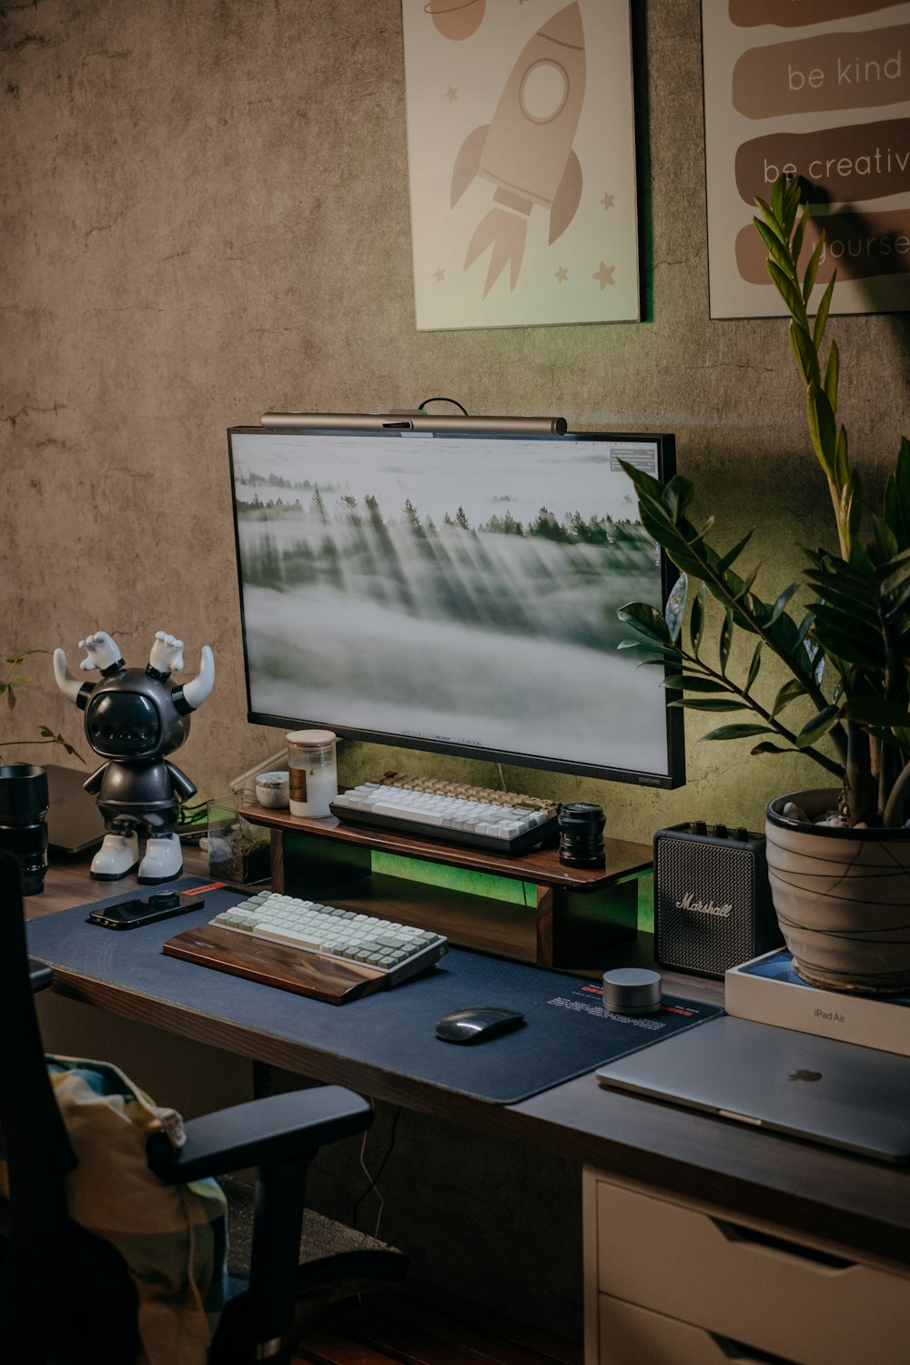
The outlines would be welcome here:
M 585 53 L 578 4 L 554 14 L 525 44 L 505 83 L 493 121 L 465 138 L 452 172 L 452 207 L 480 176 L 495 184 L 494 203 L 478 224 L 467 270 L 493 247 L 487 293 L 510 266 L 514 289 L 528 217 L 535 203 L 550 210 L 550 243 L 574 218 L 581 167 L 572 149 L 584 102 Z

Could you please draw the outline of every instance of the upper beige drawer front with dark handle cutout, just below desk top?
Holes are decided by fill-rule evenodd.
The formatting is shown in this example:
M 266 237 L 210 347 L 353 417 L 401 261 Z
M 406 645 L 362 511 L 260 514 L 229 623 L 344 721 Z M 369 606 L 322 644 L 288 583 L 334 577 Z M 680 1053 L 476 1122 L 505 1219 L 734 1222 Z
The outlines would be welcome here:
M 905 1365 L 910 1278 L 598 1181 L 598 1289 L 797 1365 Z

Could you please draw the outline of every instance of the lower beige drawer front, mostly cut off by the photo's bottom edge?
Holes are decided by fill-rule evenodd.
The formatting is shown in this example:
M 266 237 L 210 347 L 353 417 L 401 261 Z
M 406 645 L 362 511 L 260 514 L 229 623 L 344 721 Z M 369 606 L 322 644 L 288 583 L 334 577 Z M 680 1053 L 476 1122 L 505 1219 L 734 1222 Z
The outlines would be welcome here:
M 598 1365 L 767 1365 L 748 1346 L 608 1294 L 600 1294 L 598 1323 Z

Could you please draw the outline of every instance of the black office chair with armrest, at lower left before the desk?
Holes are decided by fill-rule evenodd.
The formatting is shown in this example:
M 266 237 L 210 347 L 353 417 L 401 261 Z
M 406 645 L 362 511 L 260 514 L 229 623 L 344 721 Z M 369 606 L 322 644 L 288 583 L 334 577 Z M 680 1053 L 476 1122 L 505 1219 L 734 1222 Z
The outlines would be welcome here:
M 48 1078 L 33 999 L 52 977 L 27 957 L 19 867 L 0 853 L 0 1156 L 10 1181 L 10 1200 L 0 1200 L 0 1342 L 15 1345 L 16 1365 L 132 1365 L 138 1297 L 126 1263 L 67 1213 L 65 1177 L 76 1156 Z M 147 1138 L 149 1167 L 169 1183 L 256 1168 L 255 1209 L 239 1219 L 251 1224 L 248 1276 L 229 1280 L 211 1365 L 288 1365 L 299 1304 L 404 1278 L 402 1253 L 311 1212 L 317 1238 L 336 1245 L 327 1254 L 325 1245 L 314 1249 L 310 1228 L 302 1246 L 308 1160 L 371 1121 L 367 1100 L 322 1085 L 190 1119 L 177 1149 L 164 1133 Z M 235 1189 L 243 1196 L 247 1186 Z M 228 1235 L 241 1241 L 228 1200 Z M 340 1248 L 344 1234 L 360 1245 Z

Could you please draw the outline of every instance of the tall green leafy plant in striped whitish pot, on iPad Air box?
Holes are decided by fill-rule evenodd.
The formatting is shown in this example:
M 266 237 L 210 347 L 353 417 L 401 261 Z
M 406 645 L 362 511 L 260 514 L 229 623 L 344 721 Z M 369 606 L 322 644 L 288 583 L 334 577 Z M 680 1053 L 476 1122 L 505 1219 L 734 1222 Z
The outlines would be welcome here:
M 633 602 L 619 616 L 636 632 L 625 647 L 669 666 L 664 685 L 681 693 L 673 706 L 752 713 L 704 738 L 750 740 L 752 753 L 797 751 L 825 773 L 825 786 L 768 805 L 780 928 L 794 968 L 813 984 L 890 992 L 910 987 L 910 442 L 900 444 L 881 504 L 868 506 L 838 422 L 836 343 L 821 355 L 834 276 L 814 317 L 808 311 L 824 233 L 799 276 L 808 224 L 801 198 L 799 180 L 782 177 L 769 205 L 756 201 L 754 224 L 790 314 L 838 549 L 805 549 L 801 580 L 765 602 L 753 591 L 757 571 L 744 577 L 735 568 L 752 532 L 720 549 L 714 519 L 689 519 L 688 479 L 660 483 L 626 467 L 643 524 L 682 576 L 664 614 Z M 684 625 L 693 579 L 700 587 Z M 731 655 L 744 633 L 756 643 L 738 669 Z M 771 657 L 776 666 L 768 666 Z

